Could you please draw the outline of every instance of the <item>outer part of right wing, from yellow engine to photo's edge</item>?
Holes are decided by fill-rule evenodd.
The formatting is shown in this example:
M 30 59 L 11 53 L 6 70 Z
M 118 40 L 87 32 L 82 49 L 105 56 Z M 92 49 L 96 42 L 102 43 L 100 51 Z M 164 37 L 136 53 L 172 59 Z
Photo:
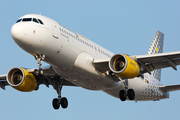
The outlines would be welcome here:
M 143 68 L 142 73 L 153 71 L 155 69 L 172 67 L 177 70 L 176 66 L 180 65 L 180 51 L 170 53 L 158 53 L 132 56 Z

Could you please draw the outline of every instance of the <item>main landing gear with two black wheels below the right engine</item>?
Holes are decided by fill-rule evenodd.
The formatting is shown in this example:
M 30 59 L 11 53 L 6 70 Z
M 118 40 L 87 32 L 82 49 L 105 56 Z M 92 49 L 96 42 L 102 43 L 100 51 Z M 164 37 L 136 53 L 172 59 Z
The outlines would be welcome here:
M 119 98 L 121 101 L 126 101 L 127 97 L 129 100 L 134 100 L 135 98 L 135 92 L 133 89 L 128 89 L 128 80 L 122 80 L 121 82 L 124 83 L 125 90 L 119 91 Z

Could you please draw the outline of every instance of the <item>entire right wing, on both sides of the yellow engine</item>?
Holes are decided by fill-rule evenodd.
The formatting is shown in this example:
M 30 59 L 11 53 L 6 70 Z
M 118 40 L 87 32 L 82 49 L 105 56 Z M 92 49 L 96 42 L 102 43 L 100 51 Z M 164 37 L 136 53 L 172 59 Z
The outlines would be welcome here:
M 130 56 L 141 66 L 141 73 L 150 73 L 155 69 L 172 67 L 177 70 L 176 66 L 180 65 L 180 51 L 169 53 L 157 53 L 147 55 L 134 55 Z M 110 71 L 109 60 L 107 59 L 94 59 L 94 67 L 96 70 L 105 73 Z M 151 74 L 151 73 L 150 73 Z

